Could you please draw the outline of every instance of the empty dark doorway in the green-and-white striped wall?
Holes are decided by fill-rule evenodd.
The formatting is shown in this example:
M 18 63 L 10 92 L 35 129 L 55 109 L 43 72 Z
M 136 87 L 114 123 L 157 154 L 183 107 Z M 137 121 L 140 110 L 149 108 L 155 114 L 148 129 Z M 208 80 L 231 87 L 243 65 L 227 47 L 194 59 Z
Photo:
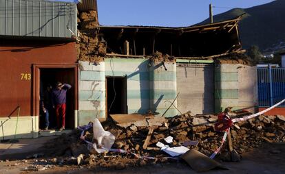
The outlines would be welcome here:
M 127 77 L 106 77 L 106 112 L 127 114 Z

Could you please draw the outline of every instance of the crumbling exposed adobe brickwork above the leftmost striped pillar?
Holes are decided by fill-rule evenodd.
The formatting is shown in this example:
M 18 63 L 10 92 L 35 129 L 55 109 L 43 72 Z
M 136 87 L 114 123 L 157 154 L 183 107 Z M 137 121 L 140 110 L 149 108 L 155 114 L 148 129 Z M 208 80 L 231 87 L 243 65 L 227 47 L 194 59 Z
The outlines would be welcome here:
M 78 15 L 81 29 L 78 31 L 78 60 L 89 62 L 102 62 L 106 54 L 107 44 L 98 37 L 97 12 L 90 10 Z

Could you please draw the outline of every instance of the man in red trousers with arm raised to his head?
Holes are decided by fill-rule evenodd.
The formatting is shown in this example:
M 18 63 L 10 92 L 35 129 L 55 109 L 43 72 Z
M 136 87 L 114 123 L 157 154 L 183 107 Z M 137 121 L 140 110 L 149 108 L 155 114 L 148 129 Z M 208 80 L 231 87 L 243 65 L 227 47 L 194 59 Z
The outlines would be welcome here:
M 56 88 L 52 90 L 52 102 L 53 107 L 56 110 L 56 124 L 59 130 L 65 129 L 65 103 L 66 103 L 66 92 L 72 86 L 70 84 L 56 83 Z

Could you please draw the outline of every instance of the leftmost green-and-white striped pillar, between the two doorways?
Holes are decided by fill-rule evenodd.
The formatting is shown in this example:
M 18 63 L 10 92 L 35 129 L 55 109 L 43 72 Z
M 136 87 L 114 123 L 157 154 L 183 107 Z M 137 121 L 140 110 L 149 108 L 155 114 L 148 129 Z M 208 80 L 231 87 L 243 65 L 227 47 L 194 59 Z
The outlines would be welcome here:
M 79 62 L 77 125 L 105 118 L 105 62 Z

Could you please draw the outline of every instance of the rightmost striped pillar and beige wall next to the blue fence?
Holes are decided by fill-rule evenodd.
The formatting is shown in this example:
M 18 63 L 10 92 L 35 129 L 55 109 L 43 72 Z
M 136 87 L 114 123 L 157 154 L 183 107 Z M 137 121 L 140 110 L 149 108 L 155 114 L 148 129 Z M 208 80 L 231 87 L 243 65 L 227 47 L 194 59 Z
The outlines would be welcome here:
M 215 112 L 257 105 L 255 66 L 244 64 L 215 65 Z

